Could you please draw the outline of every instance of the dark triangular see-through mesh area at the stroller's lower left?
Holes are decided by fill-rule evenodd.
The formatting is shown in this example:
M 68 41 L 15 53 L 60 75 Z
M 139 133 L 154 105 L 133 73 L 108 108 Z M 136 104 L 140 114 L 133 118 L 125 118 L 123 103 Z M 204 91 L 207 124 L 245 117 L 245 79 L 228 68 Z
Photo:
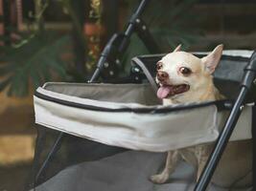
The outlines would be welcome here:
M 39 172 L 41 166 L 50 150 L 53 148 L 60 132 L 51 130 L 37 125 L 37 139 L 35 146 L 35 161 L 32 170 L 31 182 L 29 188 L 51 179 L 58 172 L 70 165 L 80 163 L 82 161 L 91 161 L 103 159 L 105 157 L 126 151 L 123 148 L 111 147 L 105 144 L 94 142 L 85 138 L 77 138 L 67 134 L 63 134 L 56 147 L 52 158 L 50 158 L 41 171 L 36 180 L 36 174 Z

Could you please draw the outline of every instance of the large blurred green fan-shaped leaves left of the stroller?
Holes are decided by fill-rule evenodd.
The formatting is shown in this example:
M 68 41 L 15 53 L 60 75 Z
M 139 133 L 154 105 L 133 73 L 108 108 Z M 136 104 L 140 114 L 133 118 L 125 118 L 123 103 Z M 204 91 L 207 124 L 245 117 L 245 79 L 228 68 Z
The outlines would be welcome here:
M 71 0 L 58 0 L 58 3 L 70 15 L 76 35 L 85 44 Z M 43 13 L 50 4 L 51 0 L 43 3 L 35 0 L 37 12 L 32 15 L 35 22 L 27 24 L 28 31 L 17 32 L 10 27 L 6 30 L 11 35 L 1 37 L 7 44 L 0 46 L 0 91 L 7 88 L 8 96 L 27 96 L 31 87 L 36 89 L 51 80 L 70 80 L 70 74 L 77 74 L 69 68 L 73 64 L 71 34 L 44 29 Z

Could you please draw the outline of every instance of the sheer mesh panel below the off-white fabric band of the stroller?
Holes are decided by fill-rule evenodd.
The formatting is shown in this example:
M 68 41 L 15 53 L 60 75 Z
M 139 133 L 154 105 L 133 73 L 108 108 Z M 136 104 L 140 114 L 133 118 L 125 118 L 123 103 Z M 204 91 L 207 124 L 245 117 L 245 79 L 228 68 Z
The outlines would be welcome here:
M 57 152 L 35 182 L 42 161 L 58 138 L 59 132 L 38 126 L 38 139 L 34 163 L 34 179 L 26 190 L 34 191 L 192 191 L 195 186 L 195 169 L 181 161 L 170 180 L 154 184 L 149 178 L 161 172 L 166 153 L 130 151 L 117 147 L 64 135 Z M 235 169 L 238 174 L 239 169 Z M 246 169 L 247 171 L 247 169 Z M 243 174 L 243 175 L 242 175 Z M 239 187 L 245 191 L 251 182 L 251 172 L 244 171 L 230 180 L 241 179 Z M 231 184 L 230 182 L 228 185 Z M 242 183 L 242 184 L 241 184 Z M 223 191 L 221 185 L 213 183 L 211 191 Z M 235 186 L 236 187 L 236 186 Z

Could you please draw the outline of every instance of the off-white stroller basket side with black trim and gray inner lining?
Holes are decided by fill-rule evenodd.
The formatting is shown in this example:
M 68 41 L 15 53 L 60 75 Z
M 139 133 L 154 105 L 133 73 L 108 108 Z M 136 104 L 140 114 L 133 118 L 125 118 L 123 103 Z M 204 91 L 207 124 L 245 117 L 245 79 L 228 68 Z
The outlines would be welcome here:
M 223 103 L 161 106 L 149 84 L 48 83 L 35 94 L 35 122 L 108 145 L 163 152 L 218 138 Z M 233 138 L 250 138 L 250 114 L 246 106 Z

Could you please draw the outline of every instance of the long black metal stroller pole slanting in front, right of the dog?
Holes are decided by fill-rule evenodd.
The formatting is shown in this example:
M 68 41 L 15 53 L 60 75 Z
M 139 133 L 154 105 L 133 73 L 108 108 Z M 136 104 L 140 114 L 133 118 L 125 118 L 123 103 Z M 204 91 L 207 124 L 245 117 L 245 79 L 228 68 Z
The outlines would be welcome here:
M 204 191 L 206 190 L 214 171 L 218 165 L 218 162 L 221 159 L 221 155 L 225 149 L 225 146 L 230 138 L 237 120 L 243 110 L 244 106 L 244 98 L 253 83 L 253 80 L 256 75 L 256 52 L 251 55 L 250 61 L 248 65 L 244 69 L 244 80 L 242 82 L 242 87 L 239 96 L 234 103 L 234 106 L 231 110 L 230 116 L 227 118 L 223 130 L 221 131 L 221 135 L 219 136 L 214 150 L 208 159 L 206 166 L 198 180 L 198 183 L 195 187 L 195 191 Z

